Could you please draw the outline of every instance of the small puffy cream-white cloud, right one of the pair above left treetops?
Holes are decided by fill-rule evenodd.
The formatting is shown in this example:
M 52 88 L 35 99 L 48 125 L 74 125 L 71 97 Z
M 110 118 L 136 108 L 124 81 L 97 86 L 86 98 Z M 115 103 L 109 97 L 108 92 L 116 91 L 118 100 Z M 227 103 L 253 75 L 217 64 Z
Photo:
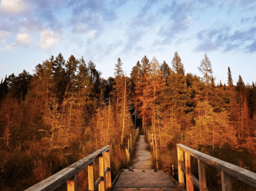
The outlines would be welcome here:
M 43 30 L 40 33 L 41 48 L 49 49 L 58 41 L 59 34 L 51 30 Z

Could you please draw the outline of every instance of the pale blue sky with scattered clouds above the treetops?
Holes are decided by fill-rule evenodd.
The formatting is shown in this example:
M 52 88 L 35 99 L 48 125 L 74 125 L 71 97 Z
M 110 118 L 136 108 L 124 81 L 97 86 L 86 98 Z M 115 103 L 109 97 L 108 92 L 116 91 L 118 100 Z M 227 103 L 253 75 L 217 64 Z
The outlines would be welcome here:
M 146 55 L 171 66 L 177 51 L 185 73 L 202 77 L 204 54 L 215 83 L 256 81 L 254 0 L 1 0 L 0 79 L 52 55 L 92 60 L 103 78 L 114 76 L 120 57 L 129 76 Z

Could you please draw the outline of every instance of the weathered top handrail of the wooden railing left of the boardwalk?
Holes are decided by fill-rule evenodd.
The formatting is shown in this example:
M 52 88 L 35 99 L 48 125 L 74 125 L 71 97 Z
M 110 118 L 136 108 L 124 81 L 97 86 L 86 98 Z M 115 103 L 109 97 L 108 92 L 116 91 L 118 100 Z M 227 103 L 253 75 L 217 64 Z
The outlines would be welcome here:
M 55 173 L 54 175 L 42 180 L 41 182 L 38 182 L 36 185 L 26 189 L 26 191 L 30 191 L 30 190 L 36 190 L 36 191 L 55 190 L 58 187 L 60 187 L 61 185 L 63 185 L 68 180 L 75 179 L 75 182 L 76 182 L 77 173 L 79 173 L 81 170 L 86 168 L 88 165 L 94 164 L 94 160 L 97 157 L 102 156 L 105 152 L 109 152 L 109 151 L 110 151 L 110 145 L 104 146 L 104 147 L 100 148 L 99 150 L 95 151 L 94 153 L 84 157 L 83 159 L 69 165 L 65 169 L 63 169 L 63 170 Z M 110 157 L 110 155 L 108 157 Z M 109 160 L 109 159 L 106 159 L 106 160 Z M 108 162 L 110 163 L 110 161 L 108 161 Z M 107 170 L 104 169 L 104 176 L 107 172 L 110 172 L 110 171 L 111 171 L 110 166 L 107 167 Z M 102 180 L 102 177 L 99 177 L 99 178 Z M 111 182 L 111 180 L 110 180 L 110 182 Z M 75 188 L 75 190 L 76 190 L 76 188 Z

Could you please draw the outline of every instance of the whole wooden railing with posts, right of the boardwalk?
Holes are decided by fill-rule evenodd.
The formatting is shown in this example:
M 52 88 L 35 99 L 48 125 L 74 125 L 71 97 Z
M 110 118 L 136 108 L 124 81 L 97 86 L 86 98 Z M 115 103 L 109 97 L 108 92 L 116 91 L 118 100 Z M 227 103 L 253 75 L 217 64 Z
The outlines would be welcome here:
M 231 177 L 234 177 L 245 184 L 256 188 L 256 173 L 238 167 L 234 164 L 216 159 L 207 154 L 193 150 L 182 144 L 177 144 L 178 152 L 178 173 L 179 185 L 184 187 L 184 175 L 186 177 L 187 191 L 193 190 L 193 185 L 199 188 L 200 191 L 208 190 L 206 187 L 205 163 L 221 171 L 221 186 L 222 191 L 232 190 Z M 184 160 L 184 153 L 185 160 Z M 198 160 L 199 180 L 191 174 L 190 156 L 196 157 Z

